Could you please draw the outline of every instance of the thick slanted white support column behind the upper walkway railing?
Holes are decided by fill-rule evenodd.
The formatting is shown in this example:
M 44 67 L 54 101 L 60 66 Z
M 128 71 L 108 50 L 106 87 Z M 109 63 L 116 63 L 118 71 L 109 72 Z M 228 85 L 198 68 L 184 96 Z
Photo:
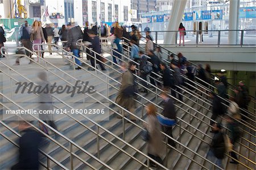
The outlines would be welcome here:
M 177 31 L 182 20 L 187 0 L 175 0 L 166 31 Z M 166 32 L 164 44 L 175 44 L 175 32 Z

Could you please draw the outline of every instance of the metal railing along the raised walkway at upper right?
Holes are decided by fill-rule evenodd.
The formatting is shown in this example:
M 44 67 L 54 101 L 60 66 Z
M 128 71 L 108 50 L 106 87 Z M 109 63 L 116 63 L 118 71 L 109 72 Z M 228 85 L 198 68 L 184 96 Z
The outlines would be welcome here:
M 162 45 L 172 45 L 179 46 L 180 32 L 179 31 L 150 31 L 151 36 L 156 44 Z M 186 35 L 184 36 L 185 46 L 200 47 L 203 45 L 211 46 L 226 46 L 226 45 L 236 45 L 236 46 L 255 46 L 256 45 L 256 30 L 186 30 Z M 175 36 L 174 44 L 164 44 L 164 36 L 166 34 L 172 34 Z M 232 44 L 229 43 L 228 36 L 234 34 L 238 36 L 237 42 Z M 254 34 L 249 34 L 254 33 Z M 143 42 L 142 42 L 143 43 Z M 183 40 L 181 40 L 181 46 L 183 45 Z

